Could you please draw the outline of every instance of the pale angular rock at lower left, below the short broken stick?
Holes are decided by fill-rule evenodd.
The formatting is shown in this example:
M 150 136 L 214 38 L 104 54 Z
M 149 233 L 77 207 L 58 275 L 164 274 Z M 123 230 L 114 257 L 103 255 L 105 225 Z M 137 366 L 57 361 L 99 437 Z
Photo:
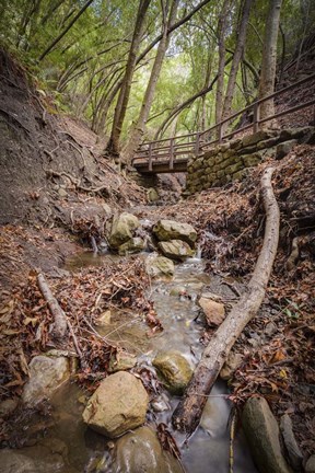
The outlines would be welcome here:
M 28 406 L 50 397 L 70 378 L 69 360 L 65 357 L 36 356 L 28 370 L 30 380 L 22 393 L 22 401 Z

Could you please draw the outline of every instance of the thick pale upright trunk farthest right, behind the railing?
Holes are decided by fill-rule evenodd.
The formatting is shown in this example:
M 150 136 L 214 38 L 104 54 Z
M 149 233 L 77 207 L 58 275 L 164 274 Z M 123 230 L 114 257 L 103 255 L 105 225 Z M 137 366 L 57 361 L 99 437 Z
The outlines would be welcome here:
M 270 0 L 269 11 L 267 15 L 264 50 L 262 50 L 262 62 L 261 73 L 259 81 L 258 97 L 264 99 L 275 92 L 275 79 L 276 79 L 276 67 L 277 67 L 277 39 L 278 30 L 280 22 L 280 9 L 282 0 Z M 260 104 L 260 119 L 267 118 L 275 114 L 275 102 L 270 99 Z M 268 128 L 273 123 L 265 122 L 261 128 Z

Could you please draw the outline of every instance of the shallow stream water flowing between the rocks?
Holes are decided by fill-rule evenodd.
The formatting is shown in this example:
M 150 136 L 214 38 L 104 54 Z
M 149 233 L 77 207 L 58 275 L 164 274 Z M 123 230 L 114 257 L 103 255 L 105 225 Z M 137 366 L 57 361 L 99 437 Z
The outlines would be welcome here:
M 85 253 L 70 262 L 68 268 L 74 269 L 91 264 L 103 265 L 106 264 L 107 257 L 109 256 L 93 257 Z M 210 282 L 211 277 L 205 274 L 201 259 L 191 258 L 185 264 L 177 265 L 172 281 L 156 281 L 150 288 L 149 296 L 154 300 L 164 331 L 155 337 L 148 338 L 148 326 L 135 318 L 129 324 L 116 331 L 117 339 L 127 341 L 128 349 L 130 347 L 132 351 L 135 348 L 133 353 L 138 355 L 138 364 L 149 369 L 154 369 L 152 359 L 156 353 L 168 349 L 179 350 L 190 365 L 195 366 L 202 350 L 199 338 L 203 328 L 202 321 L 198 318 L 196 298 L 202 287 Z M 121 326 L 121 321 L 114 319 L 108 331 L 113 333 L 119 324 Z M 218 381 L 207 402 L 200 427 L 187 445 L 183 435 L 172 431 L 180 448 L 182 462 L 187 473 L 229 472 L 231 405 L 225 399 L 226 393 L 225 383 Z M 67 473 L 116 473 L 117 466 L 112 455 L 115 440 L 108 441 L 84 426 L 81 420 L 84 401 L 84 393 L 73 383 L 66 384 L 59 390 L 51 401 L 52 423 L 47 428 L 46 440 L 50 439 L 52 442 L 58 439 L 67 446 Z M 156 424 L 163 422 L 172 429 L 171 416 L 178 397 L 164 391 L 156 402 L 164 407 L 162 412 L 151 412 L 150 420 Z M 234 443 L 234 473 L 255 472 L 242 431 L 237 431 Z

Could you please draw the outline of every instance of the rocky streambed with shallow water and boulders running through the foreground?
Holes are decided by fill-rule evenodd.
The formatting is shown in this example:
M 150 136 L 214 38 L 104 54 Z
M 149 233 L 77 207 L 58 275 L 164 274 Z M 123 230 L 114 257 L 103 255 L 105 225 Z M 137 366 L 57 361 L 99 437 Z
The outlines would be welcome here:
M 114 219 L 110 246 L 118 254 L 150 246 L 145 235 L 135 234 L 138 229 L 137 219 L 127 214 Z M 121 343 L 128 351 L 113 358 L 109 376 L 101 380 L 92 396 L 74 383 L 75 353 L 52 348 L 45 356 L 33 358 L 22 395 L 27 408 L 14 432 L 15 443 L 22 448 L 0 451 L 1 473 L 229 471 L 232 406 L 223 380 L 229 380 L 242 362 L 240 354 L 230 357 L 223 368 L 222 380 L 212 390 L 200 426 L 189 441 L 172 430 L 172 413 L 201 355 L 205 324 L 213 328 L 220 325 L 240 290 L 235 290 L 238 282 L 205 273 L 202 259 L 194 256 L 197 234 L 191 229 L 176 222 L 159 222 L 153 233 L 163 256 L 142 253 L 152 277 L 148 298 L 154 302 L 162 332 L 148 336 L 145 321 L 128 311 L 105 311 L 91 326 L 100 336 Z M 135 244 L 136 239 L 141 240 L 141 245 Z M 156 245 L 156 241 L 151 244 Z M 74 272 L 89 265 L 105 267 L 113 257 L 121 256 L 84 253 L 67 267 Z M 179 264 L 174 265 L 173 261 Z M 34 413 L 32 407 L 39 400 L 44 403 Z M 266 404 L 257 402 L 247 408 L 245 424 L 247 437 L 253 437 L 250 449 L 242 429 L 233 430 L 235 473 L 257 471 L 250 450 L 259 471 L 290 471 L 280 450 L 277 423 L 275 426 Z M 7 408 L 4 415 L 15 408 L 10 402 L 1 407 Z M 261 431 L 270 426 L 272 448 L 270 442 L 262 442 L 259 449 Z M 256 437 L 253 428 L 258 432 Z

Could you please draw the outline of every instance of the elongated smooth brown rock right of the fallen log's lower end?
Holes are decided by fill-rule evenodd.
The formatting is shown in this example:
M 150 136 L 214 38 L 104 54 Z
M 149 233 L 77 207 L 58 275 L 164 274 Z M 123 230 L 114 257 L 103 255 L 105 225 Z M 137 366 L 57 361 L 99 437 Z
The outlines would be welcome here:
M 259 472 L 292 473 L 281 452 L 277 420 L 264 397 L 246 402 L 242 422 Z

